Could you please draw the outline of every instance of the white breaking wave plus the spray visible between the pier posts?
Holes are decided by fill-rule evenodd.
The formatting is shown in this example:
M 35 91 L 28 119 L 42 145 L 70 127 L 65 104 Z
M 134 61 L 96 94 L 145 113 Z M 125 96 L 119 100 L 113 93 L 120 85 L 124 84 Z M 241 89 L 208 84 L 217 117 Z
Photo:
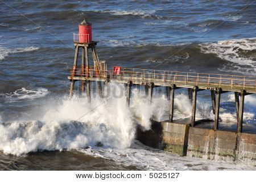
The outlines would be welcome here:
M 60 101 L 50 98 L 44 101 L 47 112 L 43 117 L 0 122 L 0 150 L 6 154 L 22 155 L 38 150 L 61 151 L 96 145 L 126 149 L 134 141 L 137 125 L 148 130 L 151 118 L 156 121 L 168 119 L 168 100 L 166 93 L 154 92 L 150 104 L 143 89 L 133 87 L 131 105 L 127 108 L 125 94 L 123 84 L 109 83 L 108 97 L 101 99 L 97 93 L 92 94 L 91 103 L 84 95 L 75 95 L 72 99 L 65 97 Z M 197 117 L 213 118 L 210 99 L 207 102 L 199 98 L 197 109 Z M 31 111 L 31 116 L 35 113 Z M 187 93 L 177 92 L 175 117 L 190 118 L 190 114 Z

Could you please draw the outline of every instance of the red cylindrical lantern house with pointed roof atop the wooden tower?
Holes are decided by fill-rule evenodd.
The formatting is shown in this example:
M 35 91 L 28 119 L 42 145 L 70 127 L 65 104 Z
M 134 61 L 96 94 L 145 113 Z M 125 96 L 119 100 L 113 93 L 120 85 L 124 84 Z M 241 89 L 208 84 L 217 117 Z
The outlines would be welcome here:
M 79 24 L 79 43 L 92 43 L 92 24 L 85 20 Z

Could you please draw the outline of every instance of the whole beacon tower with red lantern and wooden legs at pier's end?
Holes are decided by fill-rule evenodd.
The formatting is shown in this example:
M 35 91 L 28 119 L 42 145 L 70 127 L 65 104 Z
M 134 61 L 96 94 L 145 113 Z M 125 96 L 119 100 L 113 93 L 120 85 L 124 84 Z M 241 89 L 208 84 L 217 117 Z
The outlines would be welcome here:
M 74 64 L 71 69 L 71 75 L 69 76 L 69 81 L 71 81 L 70 86 L 70 96 L 73 95 L 73 89 L 76 81 L 81 81 L 82 93 L 86 90 L 86 95 L 88 96 L 88 101 L 90 101 L 90 80 L 89 78 L 93 75 L 98 77 L 106 78 L 107 75 L 107 65 L 105 61 L 100 61 L 96 52 L 97 41 L 92 41 L 92 24 L 86 22 L 85 20 L 79 24 L 79 33 L 73 33 L 73 43 L 75 45 L 75 59 Z M 81 54 L 81 64 L 79 64 L 79 50 L 82 51 Z M 93 65 L 89 65 L 89 51 L 92 52 L 92 62 Z M 116 71 L 118 73 L 118 70 Z M 83 77 L 84 79 L 79 80 L 78 77 Z M 98 92 L 102 97 L 101 82 L 98 81 Z

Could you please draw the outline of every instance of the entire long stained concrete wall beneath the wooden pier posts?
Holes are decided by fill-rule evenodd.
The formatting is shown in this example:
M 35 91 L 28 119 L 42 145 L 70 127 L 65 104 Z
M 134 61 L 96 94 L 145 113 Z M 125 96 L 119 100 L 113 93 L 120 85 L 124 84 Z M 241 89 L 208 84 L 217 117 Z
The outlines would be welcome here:
M 239 162 L 256 167 L 256 135 L 189 127 L 174 122 L 152 122 L 152 129 L 137 129 L 147 146 L 179 155 Z

